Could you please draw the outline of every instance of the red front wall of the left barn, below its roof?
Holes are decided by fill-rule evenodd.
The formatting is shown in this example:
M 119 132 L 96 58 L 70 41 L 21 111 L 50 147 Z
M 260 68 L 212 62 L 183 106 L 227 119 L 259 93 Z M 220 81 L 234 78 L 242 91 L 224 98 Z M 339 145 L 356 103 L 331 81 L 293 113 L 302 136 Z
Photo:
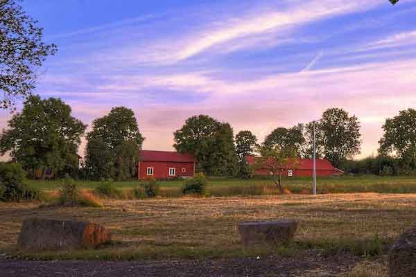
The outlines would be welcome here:
M 153 176 L 147 175 L 147 168 L 153 168 Z M 139 177 L 153 177 L 156 179 L 167 179 L 169 176 L 169 168 L 175 168 L 175 177 L 193 177 L 194 163 L 178 163 L 172 161 L 140 161 Z M 185 168 L 185 172 L 182 172 Z

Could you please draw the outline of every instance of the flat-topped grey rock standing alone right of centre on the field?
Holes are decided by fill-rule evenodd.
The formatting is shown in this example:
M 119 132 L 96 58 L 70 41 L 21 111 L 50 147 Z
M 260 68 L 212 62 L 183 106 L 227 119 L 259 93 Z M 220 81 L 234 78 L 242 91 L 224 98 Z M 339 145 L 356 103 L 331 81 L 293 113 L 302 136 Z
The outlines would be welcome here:
M 297 220 L 241 222 L 239 233 L 243 244 L 287 244 L 296 233 Z

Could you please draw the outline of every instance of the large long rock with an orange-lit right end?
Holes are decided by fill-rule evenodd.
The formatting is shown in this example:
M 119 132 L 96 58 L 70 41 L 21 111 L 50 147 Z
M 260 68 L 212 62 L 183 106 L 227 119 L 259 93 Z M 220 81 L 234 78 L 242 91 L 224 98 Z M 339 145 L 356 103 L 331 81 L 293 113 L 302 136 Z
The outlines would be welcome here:
M 90 222 L 24 220 L 17 246 L 27 250 L 95 248 L 110 242 L 110 230 Z

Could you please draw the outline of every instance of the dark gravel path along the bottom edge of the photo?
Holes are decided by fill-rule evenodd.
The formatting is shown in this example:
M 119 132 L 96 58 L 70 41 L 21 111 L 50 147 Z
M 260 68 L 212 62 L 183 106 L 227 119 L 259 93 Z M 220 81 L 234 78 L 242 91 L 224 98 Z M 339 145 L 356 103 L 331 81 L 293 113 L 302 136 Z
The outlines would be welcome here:
M 26 261 L 0 260 L 1 277 L 49 276 L 337 276 L 356 262 L 352 256 L 324 258 L 306 253 L 297 258 L 237 258 L 179 261 Z

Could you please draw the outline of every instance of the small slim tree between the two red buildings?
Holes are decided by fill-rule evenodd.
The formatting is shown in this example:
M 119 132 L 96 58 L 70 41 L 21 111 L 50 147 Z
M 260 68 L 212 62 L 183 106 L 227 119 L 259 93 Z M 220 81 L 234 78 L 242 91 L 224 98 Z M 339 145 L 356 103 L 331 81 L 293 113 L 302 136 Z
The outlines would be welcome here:
M 236 153 L 239 157 L 239 175 L 241 177 L 250 177 L 252 168 L 245 160 L 245 156 L 254 154 L 257 148 L 257 138 L 250 131 L 241 131 L 236 134 Z

